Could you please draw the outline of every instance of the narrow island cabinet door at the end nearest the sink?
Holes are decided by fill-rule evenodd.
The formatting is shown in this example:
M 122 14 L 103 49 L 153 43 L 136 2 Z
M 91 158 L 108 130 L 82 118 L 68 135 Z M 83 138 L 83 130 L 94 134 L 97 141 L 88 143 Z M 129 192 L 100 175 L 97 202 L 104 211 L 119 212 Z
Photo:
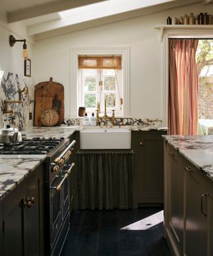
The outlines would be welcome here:
M 179 153 L 168 150 L 168 229 L 178 253 L 183 253 L 184 237 L 184 171 Z

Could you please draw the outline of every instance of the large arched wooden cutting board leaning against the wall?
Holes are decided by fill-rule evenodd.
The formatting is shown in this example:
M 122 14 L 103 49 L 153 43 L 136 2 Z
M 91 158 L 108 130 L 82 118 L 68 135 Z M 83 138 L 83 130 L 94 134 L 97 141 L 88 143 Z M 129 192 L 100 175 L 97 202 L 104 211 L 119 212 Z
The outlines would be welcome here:
M 52 98 L 52 105 L 49 107 L 49 103 L 47 103 L 49 108 L 45 109 L 55 109 L 57 113 L 59 114 L 59 121 L 57 125 L 61 125 L 64 121 L 64 115 L 65 115 L 65 105 L 64 105 L 64 87 L 61 85 L 61 83 L 53 82 L 53 77 L 50 77 L 49 81 L 41 82 L 35 85 L 35 116 L 39 115 L 41 117 L 41 112 L 39 109 L 41 109 L 41 105 L 37 105 L 37 98 Z M 37 111 L 39 113 L 37 113 Z M 43 126 L 41 122 L 38 121 L 39 117 L 37 119 L 34 119 L 34 125 L 35 126 Z

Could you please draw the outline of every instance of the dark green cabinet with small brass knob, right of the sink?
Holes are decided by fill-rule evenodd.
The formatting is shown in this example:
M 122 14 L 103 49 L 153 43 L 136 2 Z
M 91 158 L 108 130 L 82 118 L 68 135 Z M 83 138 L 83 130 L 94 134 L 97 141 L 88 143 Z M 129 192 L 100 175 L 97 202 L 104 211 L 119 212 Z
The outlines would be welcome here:
M 163 203 L 163 134 L 166 131 L 132 132 L 138 205 Z

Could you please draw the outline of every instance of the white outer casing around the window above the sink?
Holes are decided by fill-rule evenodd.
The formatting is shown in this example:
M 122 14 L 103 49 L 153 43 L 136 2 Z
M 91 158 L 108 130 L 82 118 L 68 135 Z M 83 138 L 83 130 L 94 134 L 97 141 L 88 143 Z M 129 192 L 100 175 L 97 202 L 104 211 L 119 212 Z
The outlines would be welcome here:
M 79 55 L 122 55 L 122 81 L 123 81 L 123 116 L 130 116 L 130 87 L 129 87 L 129 46 L 106 46 L 106 47 L 71 47 L 71 117 L 78 116 L 77 106 L 78 91 L 78 56 Z M 116 113 L 115 113 L 116 116 Z M 117 116 L 116 116 L 117 117 Z

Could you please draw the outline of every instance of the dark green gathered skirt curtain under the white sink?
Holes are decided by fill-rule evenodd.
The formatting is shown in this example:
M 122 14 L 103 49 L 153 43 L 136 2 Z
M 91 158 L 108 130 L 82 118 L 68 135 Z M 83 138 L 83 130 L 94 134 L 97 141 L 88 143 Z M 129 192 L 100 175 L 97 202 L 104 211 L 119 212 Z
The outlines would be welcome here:
M 132 151 L 78 153 L 79 209 L 132 208 Z

